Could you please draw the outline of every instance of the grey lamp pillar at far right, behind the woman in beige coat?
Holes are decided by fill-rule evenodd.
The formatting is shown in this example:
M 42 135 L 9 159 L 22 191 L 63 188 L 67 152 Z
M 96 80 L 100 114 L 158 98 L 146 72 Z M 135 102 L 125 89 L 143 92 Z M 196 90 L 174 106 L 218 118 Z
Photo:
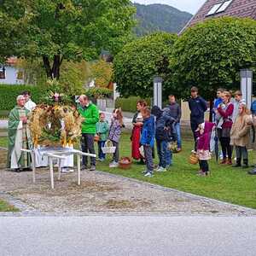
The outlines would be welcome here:
M 251 108 L 253 95 L 253 71 L 249 69 L 241 69 L 241 94 L 247 103 L 247 107 Z

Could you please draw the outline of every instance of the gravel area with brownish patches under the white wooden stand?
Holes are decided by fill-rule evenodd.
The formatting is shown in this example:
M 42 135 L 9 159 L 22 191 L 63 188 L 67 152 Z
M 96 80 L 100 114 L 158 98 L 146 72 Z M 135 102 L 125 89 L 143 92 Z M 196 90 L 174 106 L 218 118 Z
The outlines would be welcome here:
M 76 173 L 62 174 L 55 189 L 49 188 L 49 171 L 37 170 L 37 182 L 32 184 L 32 172 L 0 171 L 0 187 L 36 212 L 86 215 L 99 212 L 171 213 L 171 214 L 235 214 L 256 215 L 256 211 L 212 201 L 174 189 L 114 176 L 105 172 L 81 172 L 81 186 Z M 3 193 L 2 193 L 3 194 Z M 0 195 L 3 197 L 3 195 Z M 24 209 L 22 209 L 24 210 Z

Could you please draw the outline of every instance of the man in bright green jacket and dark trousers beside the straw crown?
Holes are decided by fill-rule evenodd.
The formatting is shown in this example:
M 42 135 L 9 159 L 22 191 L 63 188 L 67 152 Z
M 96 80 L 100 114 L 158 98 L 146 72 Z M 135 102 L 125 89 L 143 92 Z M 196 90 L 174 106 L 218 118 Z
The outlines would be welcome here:
M 82 123 L 82 139 L 81 148 L 84 153 L 95 154 L 94 149 L 94 136 L 96 134 L 96 123 L 99 121 L 99 110 L 96 105 L 89 101 L 88 96 L 79 96 L 79 113 L 84 118 Z M 89 169 L 90 171 L 96 170 L 96 158 L 90 158 L 90 167 L 87 166 L 87 156 L 83 156 L 83 169 Z

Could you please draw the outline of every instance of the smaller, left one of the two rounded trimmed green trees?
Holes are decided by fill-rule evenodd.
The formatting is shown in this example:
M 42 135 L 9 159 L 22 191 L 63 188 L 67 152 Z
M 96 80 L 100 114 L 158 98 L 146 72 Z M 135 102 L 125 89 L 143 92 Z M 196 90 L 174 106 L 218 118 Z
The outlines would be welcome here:
M 174 34 L 159 32 L 124 46 L 113 61 L 114 81 L 122 96 L 153 96 L 153 77 L 166 79 L 176 39 Z

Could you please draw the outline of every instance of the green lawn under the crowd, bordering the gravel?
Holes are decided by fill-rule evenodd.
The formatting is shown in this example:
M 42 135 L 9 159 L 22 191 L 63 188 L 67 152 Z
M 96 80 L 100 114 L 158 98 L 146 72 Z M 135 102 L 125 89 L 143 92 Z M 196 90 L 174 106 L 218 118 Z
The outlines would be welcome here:
M 0 137 L 0 146 L 6 146 L 5 137 Z M 120 156 L 131 155 L 130 135 L 124 134 L 122 136 L 120 148 Z M 151 178 L 143 177 L 141 172 L 145 169 L 145 166 L 136 163 L 129 170 L 109 169 L 110 155 L 108 155 L 108 160 L 105 162 L 97 162 L 97 169 L 160 184 L 167 188 L 178 189 L 195 195 L 204 195 L 220 201 L 256 208 L 256 176 L 247 175 L 247 170 L 221 166 L 215 160 L 211 160 L 211 175 L 209 177 L 197 177 L 196 172 L 199 167 L 190 165 L 188 162 L 191 148 L 193 148 L 193 142 L 186 137 L 183 141 L 183 151 L 179 154 L 173 154 L 173 166 L 169 169 L 170 171 L 156 172 L 154 177 Z M 255 156 L 255 152 L 251 152 L 250 155 L 250 162 L 253 163 L 252 156 Z M 157 159 L 155 163 L 157 163 Z

